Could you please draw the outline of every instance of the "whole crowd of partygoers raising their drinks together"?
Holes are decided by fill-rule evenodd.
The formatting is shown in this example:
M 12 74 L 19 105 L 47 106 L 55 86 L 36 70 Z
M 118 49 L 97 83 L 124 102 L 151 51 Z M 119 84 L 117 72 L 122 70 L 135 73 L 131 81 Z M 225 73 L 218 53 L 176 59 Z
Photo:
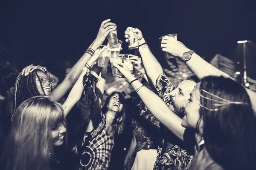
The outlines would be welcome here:
M 115 23 L 103 21 L 61 83 L 44 67 L 32 65 L 4 78 L 1 169 L 109 170 L 116 164 L 113 148 L 120 145 L 116 138 L 128 127 L 128 115 L 133 137 L 122 162 L 125 170 L 256 168 L 255 92 L 174 37 L 164 36 L 163 52 L 183 60 L 194 73 L 174 86 L 141 30 L 128 27 L 125 41 L 133 32 L 139 42 L 139 56 L 130 60 L 143 78 L 138 80 L 125 63 L 113 63 L 122 73 L 119 78 L 134 89 L 136 100 L 128 104 L 122 92 L 106 94 L 108 67 L 96 64 L 105 50 L 98 47 L 114 30 Z M 89 112 L 87 123 L 75 134 L 67 133 L 67 115 L 81 101 Z

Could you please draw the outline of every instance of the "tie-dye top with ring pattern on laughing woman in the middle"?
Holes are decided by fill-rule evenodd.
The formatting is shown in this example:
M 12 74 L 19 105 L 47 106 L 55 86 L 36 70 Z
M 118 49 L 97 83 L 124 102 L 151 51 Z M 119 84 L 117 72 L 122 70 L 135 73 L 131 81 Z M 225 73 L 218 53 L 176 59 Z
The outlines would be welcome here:
M 114 136 L 110 136 L 106 126 L 106 115 L 90 133 L 85 133 L 73 152 L 79 156 L 79 170 L 108 170 L 111 152 L 114 146 Z M 83 144 L 84 141 L 84 144 Z

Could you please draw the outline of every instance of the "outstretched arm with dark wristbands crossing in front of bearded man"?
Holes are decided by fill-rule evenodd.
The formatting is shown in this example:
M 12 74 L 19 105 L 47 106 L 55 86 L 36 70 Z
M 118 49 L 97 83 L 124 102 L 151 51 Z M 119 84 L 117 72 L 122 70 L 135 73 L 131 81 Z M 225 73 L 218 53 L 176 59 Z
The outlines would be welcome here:
M 128 70 L 118 66 L 118 64 L 114 64 L 114 66 L 122 72 L 128 82 L 135 79 Z M 123 67 L 125 66 L 123 65 Z M 137 94 L 140 96 L 141 100 L 152 115 L 171 130 L 178 138 L 183 140 L 185 128 L 181 126 L 182 119 L 172 112 L 172 110 L 169 109 L 166 103 L 158 95 L 143 86 L 140 81 L 134 81 L 131 85 L 135 90 L 140 88 L 137 90 Z

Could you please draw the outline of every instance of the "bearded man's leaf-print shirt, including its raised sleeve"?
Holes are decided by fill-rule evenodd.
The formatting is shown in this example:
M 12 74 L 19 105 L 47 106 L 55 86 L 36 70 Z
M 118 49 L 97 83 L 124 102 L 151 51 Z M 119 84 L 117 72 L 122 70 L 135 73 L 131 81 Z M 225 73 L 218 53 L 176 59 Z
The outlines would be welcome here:
M 156 89 L 160 98 L 169 105 L 171 103 L 170 92 L 175 87 L 164 73 L 161 73 L 157 78 Z M 185 170 L 193 158 L 193 155 L 183 149 L 186 147 L 183 141 L 163 124 L 160 124 L 160 140 L 154 170 Z

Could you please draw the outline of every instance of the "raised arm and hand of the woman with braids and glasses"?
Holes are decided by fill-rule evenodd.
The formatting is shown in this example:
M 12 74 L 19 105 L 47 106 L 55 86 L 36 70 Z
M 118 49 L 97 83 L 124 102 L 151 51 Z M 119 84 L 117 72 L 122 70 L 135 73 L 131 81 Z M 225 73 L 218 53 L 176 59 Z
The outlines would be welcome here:
M 89 46 L 89 48 L 93 49 L 94 51 L 102 45 L 105 38 L 107 37 L 108 33 L 116 29 L 116 24 L 110 23 L 109 20 L 105 20 L 102 22 L 98 35 L 93 43 Z M 77 63 L 70 69 L 67 76 L 65 77 L 64 81 L 61 82 L 49 95 L 54 98 L 54 101 L 60 101 L 61 98 L 65 95 L 65 93 L 73 87 L 73 85 L 78 80 L 79 76 L 81 75 L 82 68 L 84 63 L 87 63 L 90 59 L 91 55 L 88 53 L 84 53 L 82 57 L 77 61 Z

